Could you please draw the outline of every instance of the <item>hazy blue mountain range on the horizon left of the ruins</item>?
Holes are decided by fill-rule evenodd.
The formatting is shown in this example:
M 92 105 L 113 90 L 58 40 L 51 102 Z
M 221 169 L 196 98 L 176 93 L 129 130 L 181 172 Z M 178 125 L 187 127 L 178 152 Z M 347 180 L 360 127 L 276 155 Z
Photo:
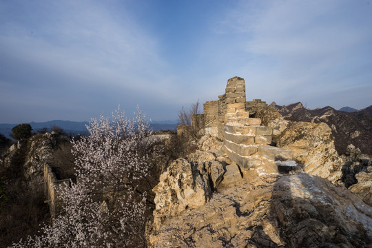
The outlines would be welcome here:
M 7 124 L 3 123 L 0 124 L 0 134 L 3 134 L 4 136 L 10 138 L 9 134 L 12 133 L 12 128 L 17 124 Z M 53 126 L 61 127 L 65 132 L 72 133 L 72 134 L 84 134 L 87 133 L 87 127 L 85 125 L 88 125 L 89 123 L 87 121 L 61 121 L 61 120 L 54 120 L 54 121 L 46 121 L 41 123 L 35 123 L 30 122 L 30 125 L 32 127 L 32 130 L 34 132 L 37 132 L 38 130 L 41 130 L 42 128 L 47 128 L 48 130 L 51 129 Z M 176 130 L 177 129 L 177 122 L 176 121 L 152 121 L 150 124 L 150 127 L 154 132 L 158 132 L 161 130 Z

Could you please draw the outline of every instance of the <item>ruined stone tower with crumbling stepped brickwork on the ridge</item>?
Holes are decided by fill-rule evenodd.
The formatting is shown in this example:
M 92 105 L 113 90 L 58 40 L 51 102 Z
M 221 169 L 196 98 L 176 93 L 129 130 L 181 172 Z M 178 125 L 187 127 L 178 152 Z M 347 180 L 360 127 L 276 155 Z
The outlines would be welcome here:
M 275 170 L 275 161 L 291 159 L 291 151 L 269 146 L 271 127 L 261 125 L 248 110 L 256 112 L 267 104 L 260 99 L 246 101 L 245 81 L 234 76 L 227 81 L 225 94 L 204 104 L 205 134 L 223 140 L 224 151 L 242 169 L 262 167 Z

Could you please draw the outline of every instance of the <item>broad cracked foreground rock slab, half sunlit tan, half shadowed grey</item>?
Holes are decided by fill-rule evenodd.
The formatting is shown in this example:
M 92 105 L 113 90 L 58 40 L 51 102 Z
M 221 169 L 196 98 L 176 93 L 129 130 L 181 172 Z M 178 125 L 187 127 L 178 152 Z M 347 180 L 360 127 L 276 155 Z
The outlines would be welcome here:
M 300 173 L 262 176 L 164 220 L 149 247 L 368 247 L 372 208 L 344 187 Z

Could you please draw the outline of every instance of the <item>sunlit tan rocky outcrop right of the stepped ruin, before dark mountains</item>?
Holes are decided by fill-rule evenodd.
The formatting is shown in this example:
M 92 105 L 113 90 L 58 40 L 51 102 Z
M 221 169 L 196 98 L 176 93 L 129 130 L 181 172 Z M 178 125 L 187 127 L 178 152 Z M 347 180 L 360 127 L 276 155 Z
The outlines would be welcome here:
M 293 158 L 304 165 L 304 172 L 342 183 L 343 161 L 335 151 L 327 124 L 293 122 L 280 134 L 277 145 L 293 151 Z

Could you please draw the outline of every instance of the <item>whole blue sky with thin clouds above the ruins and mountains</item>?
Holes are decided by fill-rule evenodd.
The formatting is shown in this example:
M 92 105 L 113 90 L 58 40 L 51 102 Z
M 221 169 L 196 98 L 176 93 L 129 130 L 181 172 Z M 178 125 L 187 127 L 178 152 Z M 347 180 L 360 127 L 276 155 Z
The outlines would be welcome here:
M 372 105 L 372 1 L 0 0 L 0 123 L 217 100 Z

